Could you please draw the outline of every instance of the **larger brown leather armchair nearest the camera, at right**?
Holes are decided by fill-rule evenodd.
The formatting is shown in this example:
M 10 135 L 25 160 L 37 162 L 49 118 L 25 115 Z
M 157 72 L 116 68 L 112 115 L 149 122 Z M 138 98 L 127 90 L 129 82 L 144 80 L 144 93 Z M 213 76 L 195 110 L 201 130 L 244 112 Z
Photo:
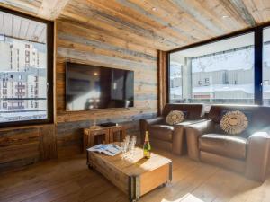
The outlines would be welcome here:
M 246 114 L 248 127 L 242 134 L 228 135 L 220 128 L 220 119 L 229 110 Z M 185 127 L 189 157 L 264 181 L 270 171 L 270 107 L 216 105 L 208 117 Z

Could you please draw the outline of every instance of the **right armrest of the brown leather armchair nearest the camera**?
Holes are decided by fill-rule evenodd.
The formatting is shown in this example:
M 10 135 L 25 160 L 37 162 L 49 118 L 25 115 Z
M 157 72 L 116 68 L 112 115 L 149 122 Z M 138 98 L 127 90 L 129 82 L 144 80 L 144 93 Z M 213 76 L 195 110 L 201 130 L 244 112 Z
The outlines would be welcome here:
M 270 135 L 257 132 L 247 139 L 246 176 L 253 180 L 266 180 L 270 166 Z

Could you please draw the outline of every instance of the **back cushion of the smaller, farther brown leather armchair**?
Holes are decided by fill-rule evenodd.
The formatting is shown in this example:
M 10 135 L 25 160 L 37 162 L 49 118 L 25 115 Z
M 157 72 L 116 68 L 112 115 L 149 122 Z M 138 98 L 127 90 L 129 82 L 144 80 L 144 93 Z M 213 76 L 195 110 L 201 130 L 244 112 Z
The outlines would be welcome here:
M 163 110 L 163 116 L 166 117 L 171 110 L 184 111 L 185 119 L 200 119 L 203 115 L 202 104 L 166 104 Z

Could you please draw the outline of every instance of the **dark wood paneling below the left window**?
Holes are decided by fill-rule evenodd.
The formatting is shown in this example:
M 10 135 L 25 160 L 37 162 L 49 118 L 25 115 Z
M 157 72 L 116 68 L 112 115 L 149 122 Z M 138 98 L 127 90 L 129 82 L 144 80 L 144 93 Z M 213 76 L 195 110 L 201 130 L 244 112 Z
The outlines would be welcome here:
M 56 157 L 54 125 L 0 129 L 0 172 Z

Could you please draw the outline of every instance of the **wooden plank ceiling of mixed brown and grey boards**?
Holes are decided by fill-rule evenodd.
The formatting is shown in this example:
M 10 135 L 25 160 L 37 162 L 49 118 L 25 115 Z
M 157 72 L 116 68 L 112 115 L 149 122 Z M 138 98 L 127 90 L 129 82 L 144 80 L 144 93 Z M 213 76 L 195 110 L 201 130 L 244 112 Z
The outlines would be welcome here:
M 169 50 L 270 21 L 269 0 L 0 0 L 41 18 L 78 22 Z

